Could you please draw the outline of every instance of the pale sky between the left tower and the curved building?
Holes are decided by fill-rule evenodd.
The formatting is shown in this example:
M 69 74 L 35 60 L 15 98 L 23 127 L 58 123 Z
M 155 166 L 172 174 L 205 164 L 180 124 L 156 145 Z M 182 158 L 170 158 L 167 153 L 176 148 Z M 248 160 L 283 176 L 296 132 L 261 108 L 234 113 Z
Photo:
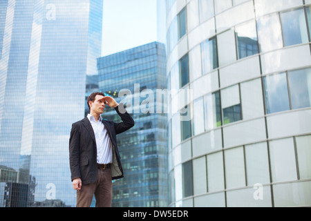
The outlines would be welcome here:
M 104 0 L 102 56 L 157 41 L 157 0 Z

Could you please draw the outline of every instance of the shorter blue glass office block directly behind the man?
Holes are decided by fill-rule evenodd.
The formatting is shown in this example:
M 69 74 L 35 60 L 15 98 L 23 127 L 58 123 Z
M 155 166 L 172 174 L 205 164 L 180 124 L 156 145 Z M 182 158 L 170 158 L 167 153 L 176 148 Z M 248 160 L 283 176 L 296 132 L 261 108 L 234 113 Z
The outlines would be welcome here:
M 97 68 L 100 90 L 124 102 L 135 121 L 131 130 L 117 135 L 124 178 L 113 183 L 112 206 L 167 206 L 167 115 L 155 110 L 156 90 L 166 86 L 164 44 L 100 57 Z M 120 122 L 109 107 L 102 117 Z

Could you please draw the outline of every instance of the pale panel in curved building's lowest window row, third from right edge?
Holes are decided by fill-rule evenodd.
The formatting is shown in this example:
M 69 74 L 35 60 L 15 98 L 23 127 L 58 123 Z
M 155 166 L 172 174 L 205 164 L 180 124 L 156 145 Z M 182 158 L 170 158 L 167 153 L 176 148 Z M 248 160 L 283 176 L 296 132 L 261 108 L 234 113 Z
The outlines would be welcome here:
M 245 146 L 247 186 L 270 183 L 267 143 Z

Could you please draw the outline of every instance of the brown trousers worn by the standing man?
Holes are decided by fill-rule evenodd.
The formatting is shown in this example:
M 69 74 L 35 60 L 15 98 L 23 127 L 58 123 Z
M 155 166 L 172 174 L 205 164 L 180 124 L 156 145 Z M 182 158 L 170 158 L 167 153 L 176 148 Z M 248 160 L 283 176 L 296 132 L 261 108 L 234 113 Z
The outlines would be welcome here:
M 77 207 L 90 207 L 95 195 L 96 207 L 111 207 L 112 180 L 111 169 L 97 169 L 97 181 L 84 184 L 77 191 Z

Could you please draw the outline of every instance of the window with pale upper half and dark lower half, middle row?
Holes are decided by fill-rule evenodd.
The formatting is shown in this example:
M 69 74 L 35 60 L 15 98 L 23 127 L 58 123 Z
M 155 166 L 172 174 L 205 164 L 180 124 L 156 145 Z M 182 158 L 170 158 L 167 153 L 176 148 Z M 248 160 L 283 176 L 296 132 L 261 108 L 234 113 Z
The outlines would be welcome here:
M 223 107 L 223 124 L 229 124 L 242 119 L 238 84 L 221 90 L 221 101 Z

